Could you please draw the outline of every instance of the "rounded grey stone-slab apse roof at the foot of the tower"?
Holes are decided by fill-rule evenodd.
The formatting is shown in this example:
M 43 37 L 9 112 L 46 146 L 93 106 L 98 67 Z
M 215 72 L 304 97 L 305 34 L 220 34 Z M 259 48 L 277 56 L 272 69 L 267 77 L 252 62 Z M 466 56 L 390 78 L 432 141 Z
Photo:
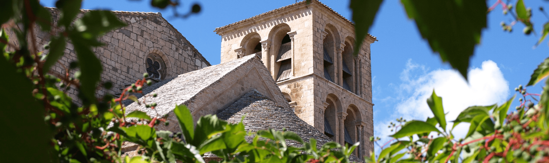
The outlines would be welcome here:
M 244 116 L 243 120 L 242 116 Z M 325 134 L 316 130 L 315 127 L 301 120 L 295 115 L 294 111 L 281 107 L 273 100 L 255 90 L 244 94 L 237 102 L 221 110 L 217 113 L 217 117 L 229 123 L 239 123 L 242 120 L 245 130 L 248 132 L 268 130 L 268 128 L 283 131 L 285 128 L 286 131 L 298 134 L 305 142 L 309 142 L 310 138 L 316 139 L 317 148 L 321 148 L 324 143 L 333 141 Z M 246 139 L 248 142 L 251 142 L 253 137 L 247 136 Z M 294 147 L 301 146 L 301 144 L 293 140 L 288 140 L 287 144 Z M 362 162 L 354 155 L 351 155 L 350 160 L 353 162 Z

